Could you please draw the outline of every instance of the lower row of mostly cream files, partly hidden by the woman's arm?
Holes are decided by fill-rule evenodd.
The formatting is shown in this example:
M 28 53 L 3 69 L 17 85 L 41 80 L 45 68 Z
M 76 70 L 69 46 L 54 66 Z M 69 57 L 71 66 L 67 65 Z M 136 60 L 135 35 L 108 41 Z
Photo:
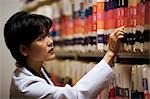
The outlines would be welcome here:
M 45 63 L 51 79 L 58 86 L 73 86 L 96 63 L 77 60 L 53 60 Z M 97 99 L 150 99 L 150 65 L 115 63 L 115 80 Z

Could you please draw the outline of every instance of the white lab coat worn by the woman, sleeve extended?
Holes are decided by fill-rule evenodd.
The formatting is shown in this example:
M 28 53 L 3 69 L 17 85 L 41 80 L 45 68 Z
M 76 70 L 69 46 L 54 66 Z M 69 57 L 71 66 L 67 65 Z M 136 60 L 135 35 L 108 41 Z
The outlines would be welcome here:
M 11 99 L 94 99 L 114 79 L 111 67 L 101 60 L 73 87 L 54 86 L 53 82 L 41 68 L 45 79 L 33 75 L 26 68 L 17 68 L 12 77 Z

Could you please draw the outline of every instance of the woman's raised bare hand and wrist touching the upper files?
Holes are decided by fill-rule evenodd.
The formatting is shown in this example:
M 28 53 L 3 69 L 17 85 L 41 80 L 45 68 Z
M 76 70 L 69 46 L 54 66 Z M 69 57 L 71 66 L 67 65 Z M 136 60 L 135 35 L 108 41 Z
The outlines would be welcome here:
M 114 57 L 120 49 L 120 40 L 124 37 L 124 26 L 117 28 L 109 35 L 108 50 L 104 56 L 104 60 L 108 64 L 112 64 Z

